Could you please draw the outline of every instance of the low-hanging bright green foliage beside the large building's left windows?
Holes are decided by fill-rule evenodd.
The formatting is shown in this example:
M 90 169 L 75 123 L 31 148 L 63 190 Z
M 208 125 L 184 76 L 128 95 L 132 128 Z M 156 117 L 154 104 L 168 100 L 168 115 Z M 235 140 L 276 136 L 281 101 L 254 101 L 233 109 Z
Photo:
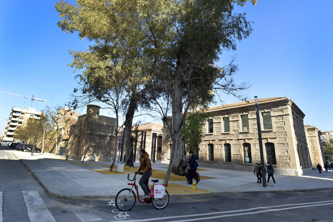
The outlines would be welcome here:
M 205 130 L 202 126 L 205 124 L 210 113 L 204 112 L 202 109 L 199 111 L 190 111 L 187 113 L 182 133 L 184 136 L 184 152 L 187 153 L 192 150 L 194 153 L 199 151 L 199 144 L 205 136 Z

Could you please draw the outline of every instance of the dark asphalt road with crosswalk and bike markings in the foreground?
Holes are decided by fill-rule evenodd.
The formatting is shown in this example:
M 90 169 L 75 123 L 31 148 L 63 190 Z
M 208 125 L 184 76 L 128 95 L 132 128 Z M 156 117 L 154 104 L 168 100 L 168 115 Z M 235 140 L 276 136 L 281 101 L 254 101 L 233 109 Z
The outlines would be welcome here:
M 137 201 L 129 212 L 119 212 L 114 200 L 49 196 L 9 147 L 0 147 L 0 171 L 0 222 L 38 221 L 41 215 L 43 222 L 333 221 L 333 190 L 172 195 L 163 210 Z

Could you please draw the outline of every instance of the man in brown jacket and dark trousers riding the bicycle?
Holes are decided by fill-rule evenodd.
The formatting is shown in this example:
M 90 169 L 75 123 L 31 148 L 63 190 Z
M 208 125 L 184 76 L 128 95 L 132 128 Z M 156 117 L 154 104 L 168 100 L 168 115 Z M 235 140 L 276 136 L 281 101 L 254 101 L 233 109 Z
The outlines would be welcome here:
M 140 155 L 140 167 L 136 173 L 140 173 L 141 179 L 139 180 L 139 184 L 142 190 L 145 192 L 145 196 L 141 197 L 141 199 L 147 199 L 150 197 L 149 191 L 150 188 L 148 186 L 149 177 L 153 174 L 152 164 L 150 162 L 149 154 L 146 152 L 144 148 L 141 148 L 139 151 Z M 141 172 L 142 170 L 142 172 Z

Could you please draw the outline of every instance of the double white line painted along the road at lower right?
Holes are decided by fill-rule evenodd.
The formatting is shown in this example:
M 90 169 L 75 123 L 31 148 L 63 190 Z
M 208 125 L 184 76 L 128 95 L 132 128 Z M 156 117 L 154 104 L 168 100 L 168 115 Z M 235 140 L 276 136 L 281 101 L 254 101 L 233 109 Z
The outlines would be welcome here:
M 331 202 L 331 203 L 328 203 L 328 202 Z M 126 222 L 138 222 L 138 221 L 147 221 L 147 220 L 149 220 L 149 221 L 151 221 L 151 220 L 165 220 L 165 219 L 180 218 L 180 217 L 198 217 L 198 216 L 206 216 L 206 215 L 213 215 L 213 214 L 224 214 L 224 213 L 252 211 L 252 210 L 273 208 L 273 207 L 297 206 L 297 205 L 317 204 L 317 203 L 325 203 L 323 205 L 328 205 L 328 204 L 333 204 L 333 200 L 309 202 L 309 203 L 297 203 L 297 204 L 284 204 L 284 205 L 266 206 L 266 207 L 255 207 L 255 208 L 248 208 L 248 209 L 241 209 L 241 210 L 229 210 L 229 211 L 211 212 L 211 213 L 204 213 L 204 214 L 191 214 L 191 215 L 178 215 L 178 216 L 170 216 L 170 217 L 158 217 L 158 218 L 149 218 L 149 219 L 142 219 L 142 220 L 125 220 L 125 221 Z M 307 206 L 309 206 L 309 205 L 307 205 Z M 317 206 L 317 205 L 310 205 L 310 206 Z M 306 207 L 306 206 L 301 206 L 301 207 Z M 295 208 L 299 208 L 299 207 L 295 207 Z M 281 208 L 281 209 L 293 209 L 293 208 Z M 269 211 L 271 211 L 271 210 L 269 210 Z M 254 213 L 257 213 L 257 212 L 259 212 L 259 211 L 255 211 Z M 263 212 L 265 212 L 265 211 L 263 211 Z M 250 214 L 250 213 L 244 213 L 244 214 Z M 239 214 L 239 215 L 242 215 L 242 214 Z M 217 216 L 217 217 L 219 217 L 219 216 Z M 188 221 L 193 221 L 193 219 L 190 219 Z M 111 222 L 114 222 L 114 221 L 111 221 Z

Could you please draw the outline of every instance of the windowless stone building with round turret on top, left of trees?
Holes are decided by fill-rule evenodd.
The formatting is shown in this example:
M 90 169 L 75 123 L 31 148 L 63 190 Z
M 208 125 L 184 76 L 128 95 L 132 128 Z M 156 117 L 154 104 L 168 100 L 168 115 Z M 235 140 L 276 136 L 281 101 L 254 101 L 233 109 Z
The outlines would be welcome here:
M 71 126 L 66 156 L 74 159 L 111 161 L 116 142 L 117 120 L 99 114 L 99 106 L 88 105 L 87 114 Z

